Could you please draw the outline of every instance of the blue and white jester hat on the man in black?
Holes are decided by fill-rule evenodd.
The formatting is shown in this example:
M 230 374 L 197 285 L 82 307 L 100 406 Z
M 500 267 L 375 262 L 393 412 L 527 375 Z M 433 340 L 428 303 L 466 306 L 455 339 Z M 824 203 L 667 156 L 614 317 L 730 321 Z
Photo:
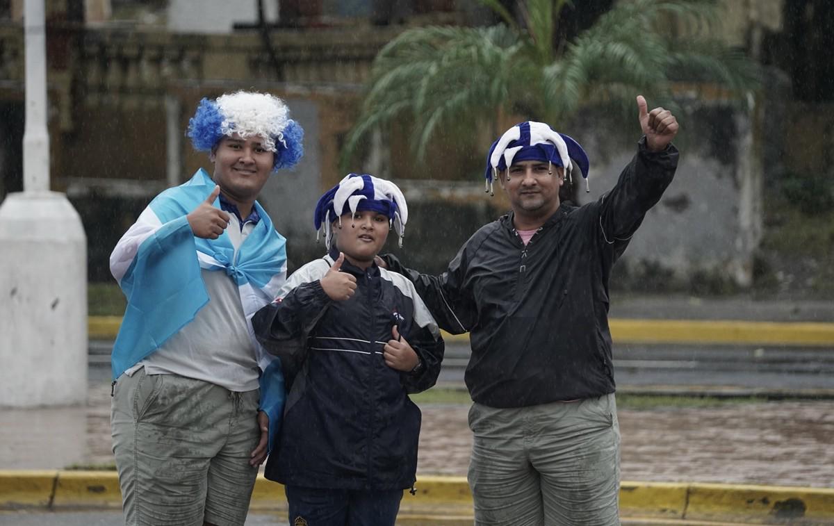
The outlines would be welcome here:
M 492 143 L 490 153 L 486 155 L 486 191 L 493 193 L 492 183 L 498 178 L 498 173 L 520 161 L 541 161 L 565 168 L 565 178 L 570 178 L 571 182 L 571 173 L 578 165 L 585 178 L 585 192 L 590 191 L 590 162 L 585 150 L 564 133 L 556 133 L 547 124 L 535 121 L 516 124 Z

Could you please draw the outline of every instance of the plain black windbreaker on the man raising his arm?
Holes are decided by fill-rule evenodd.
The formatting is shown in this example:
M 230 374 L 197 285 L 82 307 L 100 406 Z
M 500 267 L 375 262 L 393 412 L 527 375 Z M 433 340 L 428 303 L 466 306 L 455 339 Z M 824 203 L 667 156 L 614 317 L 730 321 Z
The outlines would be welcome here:
M 470 333 L 466 385 L 475 402 L 517 408 L 615 391 L 608 328 L 610 270 L 671 183 L 670 145 L 638 153 L 610 192 L 562 203 L 525 247 L 513 214 L 485 225 L 440 276 L 389 268 L 414 282 L 450 333 Z

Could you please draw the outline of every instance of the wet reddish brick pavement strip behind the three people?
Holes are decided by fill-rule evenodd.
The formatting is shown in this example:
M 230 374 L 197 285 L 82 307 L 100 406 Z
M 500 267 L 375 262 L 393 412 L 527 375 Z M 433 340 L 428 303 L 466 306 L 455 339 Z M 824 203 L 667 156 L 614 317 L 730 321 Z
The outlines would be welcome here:
M 418 474 L 465 475 L 468 406 L 424 404 Z M 0 468 L 113 463 L 110 388 L 87 408 L 0 410 Z M 620 409 L 622 478 L 834 488 L 834 401 Z

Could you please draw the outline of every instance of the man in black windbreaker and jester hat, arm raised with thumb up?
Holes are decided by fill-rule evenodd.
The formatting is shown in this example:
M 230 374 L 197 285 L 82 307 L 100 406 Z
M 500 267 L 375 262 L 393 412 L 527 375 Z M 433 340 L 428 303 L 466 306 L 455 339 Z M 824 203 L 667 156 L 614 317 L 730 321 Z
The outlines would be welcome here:
M 580 145 L 546 124 L 521 123 L 487 158 L 487 183 L 499 179 L 510 213 L 480 228 L 440 276 L 384 257 L 414 282 L 441 328 L 470 333 L 475 523 L 620 523 L 608 282 L 678 158 L 675 116 L 648 112 L 642 97 L 637 105 L 638 152 L 594 203 L 559 198 L 574 168 L 587 177 Z

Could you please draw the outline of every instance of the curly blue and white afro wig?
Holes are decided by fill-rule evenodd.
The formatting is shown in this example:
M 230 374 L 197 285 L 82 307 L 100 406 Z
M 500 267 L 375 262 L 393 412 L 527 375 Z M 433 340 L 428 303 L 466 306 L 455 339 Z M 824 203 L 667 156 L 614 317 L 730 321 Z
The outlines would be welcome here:
M 275 154 L 272 171 L 292 168 L 304 155 L 304 128 L 289 118 L 289 108 L 269 93 L 239 91 L 215 100 L 203 98 L 188 121 L 188 137 L 194 149 L 210 152 L 220 139 L 237 133 L 240 138 L 259 137 Z

